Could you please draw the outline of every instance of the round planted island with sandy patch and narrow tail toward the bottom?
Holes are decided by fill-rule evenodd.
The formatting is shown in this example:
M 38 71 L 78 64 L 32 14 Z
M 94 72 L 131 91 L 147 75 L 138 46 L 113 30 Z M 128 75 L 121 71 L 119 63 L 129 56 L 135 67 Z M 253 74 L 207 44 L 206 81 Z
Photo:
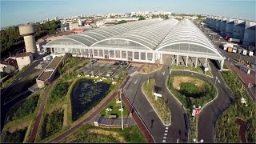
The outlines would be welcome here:
M 172 74 L 167 82 L 170 92 L 182 103 L 186 108 L 186 112 L 190 118 L 190 142 L 193 138 L 198 137 L 197 122 L 198 118 L 190 116 L 195 107 L 203 107 L 217 96 L 214 85 L 200 78 L 190 75 Z

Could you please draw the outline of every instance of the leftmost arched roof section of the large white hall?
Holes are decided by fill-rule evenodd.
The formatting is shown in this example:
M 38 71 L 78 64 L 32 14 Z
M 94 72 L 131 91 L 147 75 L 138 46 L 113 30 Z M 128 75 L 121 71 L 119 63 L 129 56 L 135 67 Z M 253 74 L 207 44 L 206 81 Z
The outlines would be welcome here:
M 52 46 L 55 44 L 58 45 L 66 45 L 69 44 L 65 42 L 66 39 L 70 39 L 73 42 L 79 42 L 82 46 L 91 46 L 95 42 L 102 41 L 103 39 L 114 37 L 118 34 L 126 33 L 130 30 L 136 30 L 142 26 L 148 26 L 155 22 L 159 22 L 160 20 L 157 18 L 145 20 L 145 21 L 137 21 L 137 22 L 127 22 L 120 25 L 115 26 L 107 26 L 100 29 L 89 30 L 83 32 L 81 34 L 73 34 L 68 35 L 62 38 L 58 38 L 46 44 L 46 46 Z

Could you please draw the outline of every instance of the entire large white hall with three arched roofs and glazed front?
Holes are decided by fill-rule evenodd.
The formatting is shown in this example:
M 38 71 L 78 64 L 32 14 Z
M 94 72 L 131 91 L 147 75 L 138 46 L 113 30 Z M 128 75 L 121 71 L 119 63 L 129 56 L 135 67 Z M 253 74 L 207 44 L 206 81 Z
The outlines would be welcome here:
M 188 59 L 198 58 L 218 61 L 220 69 L 225 57 L 202 31 L 188 19 L 150 20 L 127 22 L 88 30 L 55 39 L 43 46 L 52 54 L 70 53 L 77 57 L 105 58 L 130 62 L 162 63 L 163 57 L 176 60 L 183 58 L 186 66 Z M 185 60 L 186 59 L 186 60 Z

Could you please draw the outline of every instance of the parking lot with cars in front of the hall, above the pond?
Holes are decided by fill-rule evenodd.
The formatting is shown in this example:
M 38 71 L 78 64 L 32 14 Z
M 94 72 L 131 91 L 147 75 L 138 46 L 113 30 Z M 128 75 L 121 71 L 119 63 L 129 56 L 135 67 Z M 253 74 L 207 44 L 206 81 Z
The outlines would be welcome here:
M 119 78 L 122 74 L 134 73 L 138 68 L 139 66 L 134 66 L 128 62 L 96 62 L 96 60 L 93 60 L 92 64 L 88 63 L 77 71 L 79 74 L 90 74 L 106 78 Z

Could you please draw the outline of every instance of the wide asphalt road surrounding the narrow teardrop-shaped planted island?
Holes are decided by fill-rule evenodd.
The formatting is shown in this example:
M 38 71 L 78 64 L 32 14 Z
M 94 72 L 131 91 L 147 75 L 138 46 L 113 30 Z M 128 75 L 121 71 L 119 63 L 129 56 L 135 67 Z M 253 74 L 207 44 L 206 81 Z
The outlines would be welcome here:
M 170 94 L 169 90 L 167 90 L 166 81 L 169 73 L 168 65 L 164 64 L 162 70 L 158 70 L 154 73 L 136 74 L 130 78 L 131 81 L 129 85 L 125 87 L 125 93 L 135 110 L 138 111 L 139 116 L 142 118 L 148 130 L 150 130 L 150 134 L 152 134 L 155 142 L 163 142 L 163 140 L 166 140 L 166 142 L 177 142 L 177 140 L 178 142 L 187 142 L 188 120 L 185 120 L 184 117 L 186 112 L 174 96 Z M 155 86 L 162 88 L 162 96 L 167 99 L 166 104 L 171 110 L 170 126 L 164 126 L 162 124 L 158 115 L 154 112 L 150 103 L 142 93 L 142 83 L 146 82 L 148 78 L 155 78 Z

